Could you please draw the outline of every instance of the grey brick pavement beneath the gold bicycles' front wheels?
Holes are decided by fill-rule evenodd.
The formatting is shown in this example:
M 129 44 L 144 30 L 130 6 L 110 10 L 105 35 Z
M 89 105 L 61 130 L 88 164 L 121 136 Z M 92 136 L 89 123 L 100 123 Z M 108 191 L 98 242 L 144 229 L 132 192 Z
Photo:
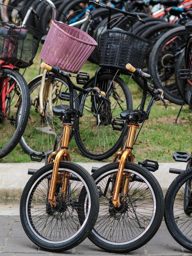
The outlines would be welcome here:
M 27 237 L 20 223 L 19 206 L 13 205 L 0 207 L 0 255 L 2 256 L 105 256 L 105 255 L 152 255 L 152 256 L 190 256 L 192 252 L 181 247 L 169 234 L 165 222 L 156 235 L 143 247 L 129 252 L 129 254 L 112 254 L 96 247 L 86 238 L 83 243 L 75 248 L 62 252 L 46 252 L 34 245 Z M 4 214 L 2 214 L 4 213 Z

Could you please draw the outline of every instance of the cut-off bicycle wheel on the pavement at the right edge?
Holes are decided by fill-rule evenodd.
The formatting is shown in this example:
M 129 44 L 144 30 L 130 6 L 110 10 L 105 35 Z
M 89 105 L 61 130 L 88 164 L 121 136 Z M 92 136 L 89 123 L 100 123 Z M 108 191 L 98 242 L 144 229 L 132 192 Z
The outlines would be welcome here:
M 165 195 L 165 223 L 172 237 L 192 251 L 192 167 L 180 173 Z

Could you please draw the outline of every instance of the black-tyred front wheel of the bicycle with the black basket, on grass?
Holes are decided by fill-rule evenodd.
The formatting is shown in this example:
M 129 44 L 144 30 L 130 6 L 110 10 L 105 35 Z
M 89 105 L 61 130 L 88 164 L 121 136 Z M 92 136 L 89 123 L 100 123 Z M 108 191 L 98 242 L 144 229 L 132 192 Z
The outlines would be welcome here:
M 86 88 L 94 86 L 94 79 L 86 84 Z M 123 136 L 128 131 L 120 113 L 132 109 L 133 105 L 131 92 L 120 77 L 112 73 L 100 74 L 96 86 L 106 93 L 105 97 L 111 104 L 96 99 L 97 110 L 94 110 L 94 97 L 88 96 L 83 117 L 76 123 L 78 128 L 75 130 L 75 140 L 85 157 L 103 160 L 120 148 Z

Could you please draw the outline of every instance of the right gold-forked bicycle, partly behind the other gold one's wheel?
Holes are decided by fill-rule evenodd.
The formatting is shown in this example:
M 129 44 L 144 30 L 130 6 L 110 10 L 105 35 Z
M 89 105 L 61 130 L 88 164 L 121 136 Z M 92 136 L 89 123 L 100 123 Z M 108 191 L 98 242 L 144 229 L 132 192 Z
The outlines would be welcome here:
M 100 208 L 96 225 L 88 238 L 98 247 L 113 253 L 127 253 L 145 245 L 161 225 L 164 214 L 164 197 L 161 186 L 150 171 L 159 164 L 146 159 L 135 162 L 132 153 L 136 130 L 148 119 L 154 101 L 163 99 L 161 89 L 151 90 L 147 80 L 151 76 L 132 65 L 127 70 L 143 79 L 143 96 L 140 108 L 121 112 L 129 132 L 123 139 L 121 151 L 113 162 L 99 169 L 92 168 L 100 196 Z M 144 111 L 147 92 L 151 94 Z

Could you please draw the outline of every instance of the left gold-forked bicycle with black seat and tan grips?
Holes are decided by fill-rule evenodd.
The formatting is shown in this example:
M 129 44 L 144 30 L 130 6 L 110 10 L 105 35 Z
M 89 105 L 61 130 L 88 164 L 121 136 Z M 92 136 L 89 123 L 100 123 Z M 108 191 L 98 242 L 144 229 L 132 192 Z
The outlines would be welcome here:
M 20 201 L 20 219 L 27 236 L 39 247 L 53 252 L 68 250 L 81 243 L 92 230 L 98 215 L 98 190 L 91 175 L 78 164 L 70 162 L 68 152 L 74 119 L 82 116 L 85 98 L 91 93 L 100 103 L 108 101 L 98 88 L 82 89 L 71 82 L 71 74 L 41 66 L 65 77 L 69 86 L 70 106 L 54 106 L 53 112 L 62 120 L 60 136 L 47 164 L 36 171 L 26 184 Z M 80 107 L 74 108 L 74 90 L 83 94 Z

